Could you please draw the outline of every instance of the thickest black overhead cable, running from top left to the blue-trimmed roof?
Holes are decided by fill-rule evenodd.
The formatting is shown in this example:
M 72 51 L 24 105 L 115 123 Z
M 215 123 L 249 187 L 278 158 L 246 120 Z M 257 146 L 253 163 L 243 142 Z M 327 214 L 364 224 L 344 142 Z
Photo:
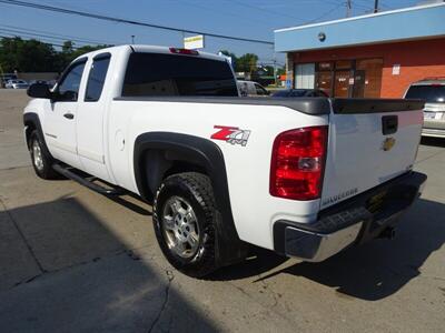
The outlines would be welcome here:
M 103 14 L 96 14 L 96 13 L 86 12 L 86 11 L 65 9 L 65 8 L 60 8 L 60 7 L 39 4 L 39 3 L 32 3 L 32 2 L 27 2 L 27 1 L 0 0 L 0 2 L 6 3 L 6 4 L 40 9 L 40 10 L 46 10 L 46 11 L 60 12 L 60 13 L 65 13 L 65 14 L 73 14 L 73 16 L 91 18 L 91 19 L 97 19 L 97 20 L 102 20 L 102 21 L 111 21 L 111 22 L 126 23 L 126 24 L 147 27 L 147 28 L 155 28 L 155 29 L 176 31 L 176 32 L 205 34 L 208 37 L 214 37 L 214 38 L 231 39 L 231 40 L 239 40 L 239 41 L 246 41 L 246 42 L 253 42 L 253 43 L 274 44 L 274 42 L 266 41 L 266 40 L 231 37 L 231 36 L 226 36 L 226 34 L 209 33 L 209 32 L 197 31 L 197 30 L 178 29 L 178 28 L 172 28 L 172 27 L 167 27 L 167 26 L 151 24 L 151 23 L 146 23 L 146 22 L 141 22 L 141 21 L 134 21 L 134 20 L 121 19 L 121 18 L 116 18 L 116 17 L 108 17 L 108 16 L 103 16 Z

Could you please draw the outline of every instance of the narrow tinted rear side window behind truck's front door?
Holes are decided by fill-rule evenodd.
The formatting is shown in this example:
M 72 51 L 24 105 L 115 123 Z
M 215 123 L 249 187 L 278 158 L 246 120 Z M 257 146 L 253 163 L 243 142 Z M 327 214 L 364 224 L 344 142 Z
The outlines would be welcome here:
M 100 99 L 109 64 L 110 54 L 99 56 L 93 59 L 88 77 L 85 101 L 96 102 Z

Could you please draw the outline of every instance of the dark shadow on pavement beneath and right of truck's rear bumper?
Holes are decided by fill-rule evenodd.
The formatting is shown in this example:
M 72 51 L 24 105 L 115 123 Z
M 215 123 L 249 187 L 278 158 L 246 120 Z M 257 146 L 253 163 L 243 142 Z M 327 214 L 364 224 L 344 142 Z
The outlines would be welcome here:
M 375 240 L 350 248 L 322 263 L 300 262 L 267 273 L 286 259 L 261 252 L 256 262 L 225 269 L 214 279 L 241 279 L 261 274 L 256 281 L 279 274 L 303 276 L 353 297 L 376 301 L 400 290 L 421 274 L 428 256 L 445 243 L 445 205 L 419 199 L 399 221 L 396 239 Z M 244 266 L 244 268 L 243 268 Z

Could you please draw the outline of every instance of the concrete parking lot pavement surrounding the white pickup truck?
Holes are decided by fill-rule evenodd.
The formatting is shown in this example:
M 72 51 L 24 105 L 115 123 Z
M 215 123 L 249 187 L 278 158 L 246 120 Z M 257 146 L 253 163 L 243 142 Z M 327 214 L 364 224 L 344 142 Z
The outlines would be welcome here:
M 256 250 L 198 281 L 158 249 L 151 208 L 34 175 L 23 90 L 0 90 L 1 332 L 444 332 L 445 141 L 393 241 L 310 264 Z

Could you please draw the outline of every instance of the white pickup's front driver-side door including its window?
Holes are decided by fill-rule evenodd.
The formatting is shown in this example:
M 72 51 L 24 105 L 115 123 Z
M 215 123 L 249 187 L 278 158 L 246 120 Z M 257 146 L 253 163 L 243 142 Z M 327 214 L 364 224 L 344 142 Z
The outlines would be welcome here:
M 47 110 L 44 137 L 51 154 L 75 168 L 80 168 L 77 154 L 78 95 L 86 60 L 72 63 L 55 90 L 55 99 Z

